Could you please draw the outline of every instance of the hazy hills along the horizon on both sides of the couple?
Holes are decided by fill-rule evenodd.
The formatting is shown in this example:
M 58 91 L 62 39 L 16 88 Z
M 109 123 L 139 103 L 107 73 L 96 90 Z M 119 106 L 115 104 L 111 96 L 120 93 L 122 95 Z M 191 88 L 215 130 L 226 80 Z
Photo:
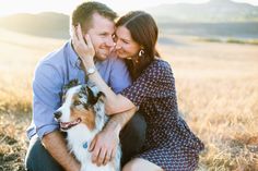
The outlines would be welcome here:
M 146 9 L 161 33 L 201 37 L 258 38 L 258 7 L 230 0 L 161 4 Z M 46 12 L 0 19 L 0 27 L 28 35 L 69 38 L 69 16 Z

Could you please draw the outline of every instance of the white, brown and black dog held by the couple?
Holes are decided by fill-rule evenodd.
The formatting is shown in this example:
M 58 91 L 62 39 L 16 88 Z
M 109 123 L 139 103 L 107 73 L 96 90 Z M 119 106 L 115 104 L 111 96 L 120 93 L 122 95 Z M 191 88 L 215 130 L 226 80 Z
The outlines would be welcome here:
M 68 84 L 63 95 L 62 106 L 54 115 L 60 130 L 67 132 L 68 148 L 80 161 L 81 171 L 119 171 L 120 145 L 115 158 L 101 167 L 92 163 L 92 154 L 87 150 L 92 139 L 108 120 L 103 100 L 105 95 L 94 84 L 77 85 L 77 81 Z

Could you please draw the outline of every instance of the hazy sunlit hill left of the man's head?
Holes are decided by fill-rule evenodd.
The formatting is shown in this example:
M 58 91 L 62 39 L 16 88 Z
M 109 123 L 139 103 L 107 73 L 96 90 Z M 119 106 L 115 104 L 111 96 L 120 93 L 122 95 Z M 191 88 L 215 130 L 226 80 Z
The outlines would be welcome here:
M 0 19 L 0 27 L 40 37 L 68 38 L 69 16 L 55 12 L 20 13 Z

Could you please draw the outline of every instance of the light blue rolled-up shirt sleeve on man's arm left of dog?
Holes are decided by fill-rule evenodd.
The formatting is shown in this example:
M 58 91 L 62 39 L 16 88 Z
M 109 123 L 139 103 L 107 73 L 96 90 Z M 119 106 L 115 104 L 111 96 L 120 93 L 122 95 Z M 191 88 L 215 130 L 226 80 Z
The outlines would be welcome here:
M 54 112 L 60 106 L 62 78 L 55 66 L 42 63 L 33 81 L 33 121 L 39 138 L 59 129 Z

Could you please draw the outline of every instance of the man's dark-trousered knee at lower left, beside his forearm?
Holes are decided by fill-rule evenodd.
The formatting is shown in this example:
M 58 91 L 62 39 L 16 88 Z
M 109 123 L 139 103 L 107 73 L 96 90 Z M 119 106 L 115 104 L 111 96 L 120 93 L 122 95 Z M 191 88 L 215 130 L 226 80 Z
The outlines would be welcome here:
M 28 171 L 62 171 L 61 166 L 50 156 L 42 145 L 39 138 L 33 137 L 30 142 L 25 158 L 25 168 Z

